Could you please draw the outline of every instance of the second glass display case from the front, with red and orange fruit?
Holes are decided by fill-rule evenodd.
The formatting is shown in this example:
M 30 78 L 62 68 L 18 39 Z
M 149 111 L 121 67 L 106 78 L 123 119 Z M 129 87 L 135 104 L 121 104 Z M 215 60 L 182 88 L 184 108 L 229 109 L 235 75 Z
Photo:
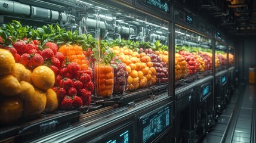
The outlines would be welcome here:
M 175 27 L 175 81 L 189 83 L 212 74 L 212 40 Z

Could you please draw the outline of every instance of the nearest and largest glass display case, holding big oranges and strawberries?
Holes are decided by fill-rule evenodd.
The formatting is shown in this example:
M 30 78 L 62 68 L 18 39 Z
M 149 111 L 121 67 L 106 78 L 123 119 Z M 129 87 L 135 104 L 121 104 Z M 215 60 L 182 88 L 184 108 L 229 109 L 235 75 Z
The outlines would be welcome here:
M 15 80 L 9 88 L 14 92 L 0 91 L 0 128 L 8 138 L 13 126 L 16 132 L 30 130 L 21 126 L 52 117 L 70 125 L 81 114 L 168 92 L 168 20 L 98 1 L 1 2 L 26 8 L 26 13 L 0 10 L 7 17 L 1 21 L 0 54 L 11 59 L 5 65 L 10 71 L 0 71 L 7 78 L 0 84 Z

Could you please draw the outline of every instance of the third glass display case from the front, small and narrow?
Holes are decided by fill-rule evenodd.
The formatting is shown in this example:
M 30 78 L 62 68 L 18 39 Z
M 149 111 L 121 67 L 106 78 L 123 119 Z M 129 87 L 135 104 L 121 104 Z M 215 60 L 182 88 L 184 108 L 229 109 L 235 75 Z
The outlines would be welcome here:
M 215 41 L 215 73 L 223 70 L 227 70 L 227 46 Z

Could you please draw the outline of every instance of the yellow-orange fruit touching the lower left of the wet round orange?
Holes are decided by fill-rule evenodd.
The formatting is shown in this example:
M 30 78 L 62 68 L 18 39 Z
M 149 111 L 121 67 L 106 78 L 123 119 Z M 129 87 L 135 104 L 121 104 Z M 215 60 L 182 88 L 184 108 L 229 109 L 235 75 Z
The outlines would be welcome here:
M 21 98 L 21 100 L 25 102 L 29 101 L 34 94 L 35 88 L 33 87 L 33 85 L 25 81 L 20 82 L 20 93 L 18 94 L 18 96 Z

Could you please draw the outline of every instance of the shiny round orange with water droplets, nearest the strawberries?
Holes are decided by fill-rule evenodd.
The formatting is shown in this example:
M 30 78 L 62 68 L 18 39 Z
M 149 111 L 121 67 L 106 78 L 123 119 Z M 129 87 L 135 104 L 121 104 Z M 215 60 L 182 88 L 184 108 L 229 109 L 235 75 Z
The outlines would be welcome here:
M 32 72 L 32 82 L 36 88 L 47 91 L 47 89 L 52 88 L 55 83 L 55 75 L 53 70 L 47 66 L 36 67 Z

